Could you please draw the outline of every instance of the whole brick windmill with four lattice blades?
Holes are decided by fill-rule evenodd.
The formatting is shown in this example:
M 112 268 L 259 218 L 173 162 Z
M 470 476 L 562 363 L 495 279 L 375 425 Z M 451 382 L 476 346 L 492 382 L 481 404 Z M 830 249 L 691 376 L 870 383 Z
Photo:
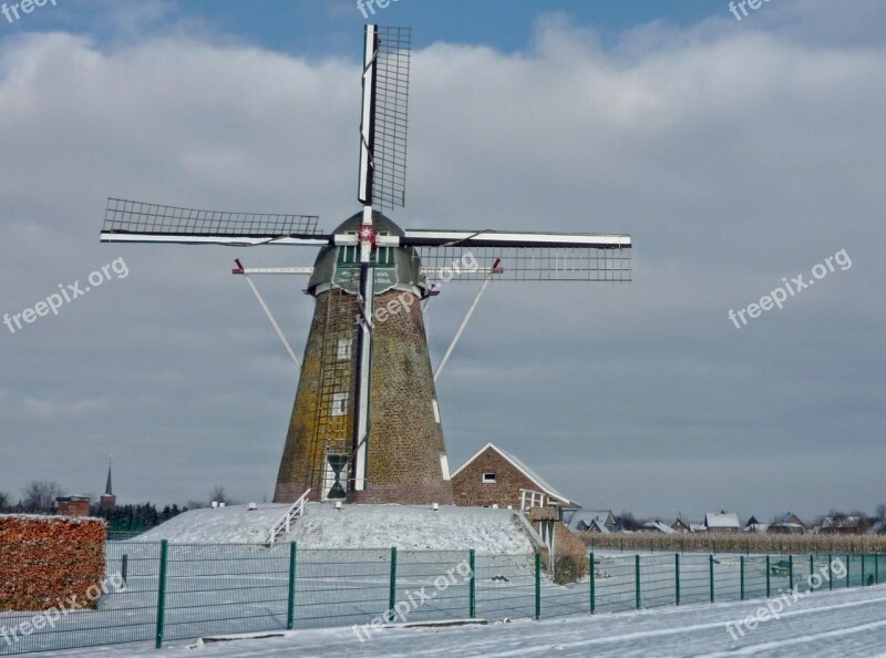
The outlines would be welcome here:
M 404 230 L 382 214 L 405 201 L 410 58 L 409 29 L 365 27 L 362 208 L 332 233 L 320 230 L 313 215 L 107 203 L 102 241 L 320 248 L 312 268 L 247 269 L 238 260 L 234 270 L 247 278 L 309 275 L 306 291 L 316 298 L 275 502 L 308 491 L 322 501 L 453 502 L 421 311 L 434 278 L 482 281 L 456 340 L 493 279 L 630 280 L 627 235 Z

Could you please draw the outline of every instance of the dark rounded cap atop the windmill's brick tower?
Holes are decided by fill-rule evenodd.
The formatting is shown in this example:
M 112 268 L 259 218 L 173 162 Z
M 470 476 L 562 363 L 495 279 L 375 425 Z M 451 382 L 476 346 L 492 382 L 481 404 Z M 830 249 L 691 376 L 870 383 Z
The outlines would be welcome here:
M 389 217 L 378 210 L 372 212 L 372 226 L 362 225 L 362 213 L 357 213 L 344 220 L 334 235 L 356 235 L 372 230 L 371 237 L 363 236 L 374 243 L 375 236 L 404 237 L 405 232 Z M 388 290 L 403 290 L 418 295 L 422 299 L 431 295 L 431 286 L 422 274 L 421 260 L 414 247 L 377 247 L 372 253 L 371 266 L 374 270 L 373 291 L 381 295 Z M 313 264 L 313 274 L 308 282 L 307 292 L 317 297 L 330 288 L 357 295 L 360 285 L 360 249 L 359 246 L 330 245 L 320 249 Z

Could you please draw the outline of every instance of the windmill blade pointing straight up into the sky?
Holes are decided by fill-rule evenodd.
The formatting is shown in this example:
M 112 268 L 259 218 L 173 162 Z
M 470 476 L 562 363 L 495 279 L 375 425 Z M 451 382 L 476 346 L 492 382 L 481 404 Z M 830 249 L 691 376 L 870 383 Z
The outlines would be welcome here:
M 393 209 L 405 205 L 412 30 L 368 25 L 367 35 L 360 199 Z

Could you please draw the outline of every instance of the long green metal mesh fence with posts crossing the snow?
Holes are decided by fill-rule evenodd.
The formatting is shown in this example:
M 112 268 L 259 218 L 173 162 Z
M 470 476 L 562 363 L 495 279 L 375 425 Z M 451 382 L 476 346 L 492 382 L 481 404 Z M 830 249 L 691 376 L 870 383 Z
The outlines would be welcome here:
M 0 613 L 0 655 L 317 627 L 342 627 L 357 641 L 390 623 L 615 613 L 886 577 L 879 555 L 598 552 L 587 559 L 586 576 L 557 585 L 539 554 L 110 542 L 112 586 L 95 608 Z

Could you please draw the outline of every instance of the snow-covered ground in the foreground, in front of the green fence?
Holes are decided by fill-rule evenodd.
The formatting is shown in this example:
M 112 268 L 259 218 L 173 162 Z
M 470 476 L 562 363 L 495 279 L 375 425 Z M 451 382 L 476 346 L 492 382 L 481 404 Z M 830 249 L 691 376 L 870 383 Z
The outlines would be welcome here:
M 95 658 L 271 658 L 365 656 L 759 656 L 855 657 L 886 655 L 886 586 L 816 592 L 780 619 L 761 623 L 734 640 L 725 624 L 754 614 L 764 600 L 656 608 L 590 617 L 495 623 L 452 628 L 389 628 L 360 642 L 350 628 L 297 630 L 266 639 L 202 645 L 168 644 L 162 654 L 145 644 L 61 651 Z

